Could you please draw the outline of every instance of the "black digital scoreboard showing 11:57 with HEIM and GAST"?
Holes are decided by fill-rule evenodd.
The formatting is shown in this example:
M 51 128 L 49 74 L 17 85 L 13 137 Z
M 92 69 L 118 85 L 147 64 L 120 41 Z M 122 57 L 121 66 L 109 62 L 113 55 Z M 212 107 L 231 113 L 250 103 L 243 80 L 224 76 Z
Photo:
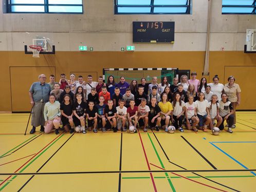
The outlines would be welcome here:
M 133 43 L 174 43 L 175 22 L 133 22 Z

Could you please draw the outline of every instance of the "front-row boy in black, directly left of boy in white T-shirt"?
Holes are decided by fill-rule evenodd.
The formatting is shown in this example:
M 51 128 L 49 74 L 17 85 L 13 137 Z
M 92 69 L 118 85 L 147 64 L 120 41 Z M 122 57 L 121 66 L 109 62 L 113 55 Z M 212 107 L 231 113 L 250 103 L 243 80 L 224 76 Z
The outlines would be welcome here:
M 107 106 L 105 108 L 105 115 L 107 119 L 106 127 L 107 131 L 109 131 L 112 127 L 114 132 L 117 132 L 117 109 L 113 104 L 113 100 L 107 101 Z

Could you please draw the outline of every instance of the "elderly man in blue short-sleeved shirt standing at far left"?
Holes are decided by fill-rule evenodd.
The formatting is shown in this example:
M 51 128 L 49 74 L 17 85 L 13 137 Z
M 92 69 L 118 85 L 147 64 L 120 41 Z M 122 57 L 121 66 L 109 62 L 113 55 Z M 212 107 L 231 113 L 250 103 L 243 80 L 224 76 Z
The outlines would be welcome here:
M 39 82 L 34 82 L 29 89 L 30 104 L 32 109 L 32 129 L 30 134 L 35 132 L 35 127 L 41 125 L 40 131 L 44 131 L 44 105 L 49 101 L 51 87 L 46 82 L 44 74 L 39 75 Z

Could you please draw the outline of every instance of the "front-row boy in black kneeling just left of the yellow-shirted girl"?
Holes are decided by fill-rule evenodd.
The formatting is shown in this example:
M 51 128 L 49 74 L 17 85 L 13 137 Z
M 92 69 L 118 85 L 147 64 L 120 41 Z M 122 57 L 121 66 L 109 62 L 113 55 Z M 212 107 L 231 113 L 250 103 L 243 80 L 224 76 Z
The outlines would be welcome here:
M 156 105 L 156 98 L 151 98 L 151 104 L 149 105 L 150 112 L 149 112 L 149 126 L 155 127 L 157 131 L 159 131 L 158 125 L 160 125 L 161 118 L 160 112 L 161 109 L 158 105 Z

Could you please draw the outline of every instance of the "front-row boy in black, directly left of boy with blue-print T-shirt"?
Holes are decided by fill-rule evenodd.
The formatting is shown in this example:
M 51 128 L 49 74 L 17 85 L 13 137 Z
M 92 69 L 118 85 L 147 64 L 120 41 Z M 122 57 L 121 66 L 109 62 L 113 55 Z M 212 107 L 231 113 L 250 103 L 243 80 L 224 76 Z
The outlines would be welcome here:
M 88 130 L 91 131 L 92 127 L 94 126 L 94 132 L 98 132 L 97 131 L 97 109 L 94 106 L 94 102 L 93 101 L 89 101 L 88 103 L 88 107 L 85 110 L 86 116 L 87 116 L 87 123 L 88 123 Z

